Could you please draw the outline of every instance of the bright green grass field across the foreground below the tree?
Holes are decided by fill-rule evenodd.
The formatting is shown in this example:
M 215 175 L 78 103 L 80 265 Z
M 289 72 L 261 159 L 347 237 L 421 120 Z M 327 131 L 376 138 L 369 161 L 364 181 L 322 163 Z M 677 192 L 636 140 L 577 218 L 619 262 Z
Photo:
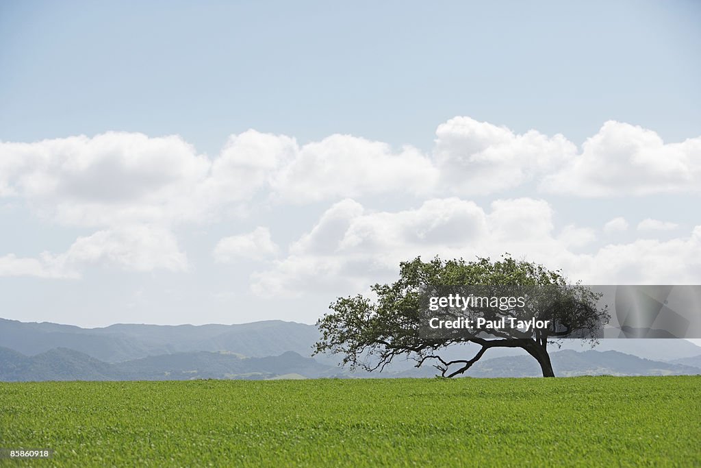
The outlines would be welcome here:
M 686 467 L 700 438 L 701 377 L 0 384 L 32 466 Z

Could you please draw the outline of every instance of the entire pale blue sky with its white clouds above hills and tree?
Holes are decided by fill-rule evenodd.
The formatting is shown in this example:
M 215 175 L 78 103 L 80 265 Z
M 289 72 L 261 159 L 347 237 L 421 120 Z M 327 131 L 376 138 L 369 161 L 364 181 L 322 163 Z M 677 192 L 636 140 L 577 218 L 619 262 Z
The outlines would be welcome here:
M 314 323 L 399 262 L 700 284 L 695 1 L 0 3 L 0 316 Z

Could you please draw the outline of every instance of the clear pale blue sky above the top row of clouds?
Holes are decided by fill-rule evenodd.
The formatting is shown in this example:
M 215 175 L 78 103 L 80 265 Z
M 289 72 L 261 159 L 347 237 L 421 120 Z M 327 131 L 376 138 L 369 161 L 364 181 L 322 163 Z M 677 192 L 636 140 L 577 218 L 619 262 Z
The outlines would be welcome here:
M 701 6 L 36 2 L 0 6 L 0 138 L 248 128 L 430 147 L 468 114 L 582 142 L 608 119 L 701 128 Z

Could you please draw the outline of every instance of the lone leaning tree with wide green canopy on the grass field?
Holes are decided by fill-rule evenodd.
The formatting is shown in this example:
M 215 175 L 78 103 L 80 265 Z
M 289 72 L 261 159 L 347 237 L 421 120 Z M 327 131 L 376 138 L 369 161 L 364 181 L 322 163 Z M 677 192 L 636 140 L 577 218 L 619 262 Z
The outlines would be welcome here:
M 494 285 L 538 290 L 539 297 L 529 299 L 529 307 L 499 312 L 501 316 L 526 314 L 548 319 L 546 329 L 499 330 L 489 333 L 461 333 L 435 337 L 421 333 L 426 325 L 422 301 L 427 288 L 440 290 L 451 286 Z M 484 353 L 494 347 L 519 347 L 528 352 L 543 370 L 543 377 L 554 377 L 547 345 L 562 337 L 579 337 L 593 345 L 601 328 L 608 321 L 606 309 L 597 309 L 599 295 L 580 285 L 569 284 L 561 270 L 552 271 L 543 265 L 515 260 L 505 254 L 501 260 L 477 258 L 430 262 L 416 258 L 400 264 L 400 278 L 390 284 L 371 288 L 376 298 L 363 295 L 339 297 L 329 306 L 332 312 L 319 319 L 321 339 L 315 354 L 330 352 L 342 357 L 341 365 L 351 370 L 383 370 L 397 356 L 408 356 L 420 367 L 433 363 L 443 377 L 465 373 Z M 531 296 L 533 293 L 531 293 Z M 490 312 L 491 311 L 491 312 Z M 486 318 L 494 309 L 475 309 L 472 313 Z M 494 318 L 491 316 L 491 318 Z M 480 345 L 470 359 L 449 360 L 441 354 L 450 345 L 471 342 Z

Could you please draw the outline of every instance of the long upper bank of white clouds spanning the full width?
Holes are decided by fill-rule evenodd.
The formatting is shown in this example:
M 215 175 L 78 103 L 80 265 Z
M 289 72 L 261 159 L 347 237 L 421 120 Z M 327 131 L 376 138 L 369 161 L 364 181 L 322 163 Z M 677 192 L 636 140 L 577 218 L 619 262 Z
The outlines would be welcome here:
M 34 143 L 0 142 L 0 196 L 17 196 L 62 225 L 200 222 L 263 193 L 276 203 L 381 194 L 494 194 L 525 182 L 578 196 L 699 192 L 701 137 L 662 142 L 654 131 L 608 121 L 578 152 L 548 137 L 455 117 L 433 150 L 331 135 L 246 131 L 210 159 L 177 136 L 108 132 Z

